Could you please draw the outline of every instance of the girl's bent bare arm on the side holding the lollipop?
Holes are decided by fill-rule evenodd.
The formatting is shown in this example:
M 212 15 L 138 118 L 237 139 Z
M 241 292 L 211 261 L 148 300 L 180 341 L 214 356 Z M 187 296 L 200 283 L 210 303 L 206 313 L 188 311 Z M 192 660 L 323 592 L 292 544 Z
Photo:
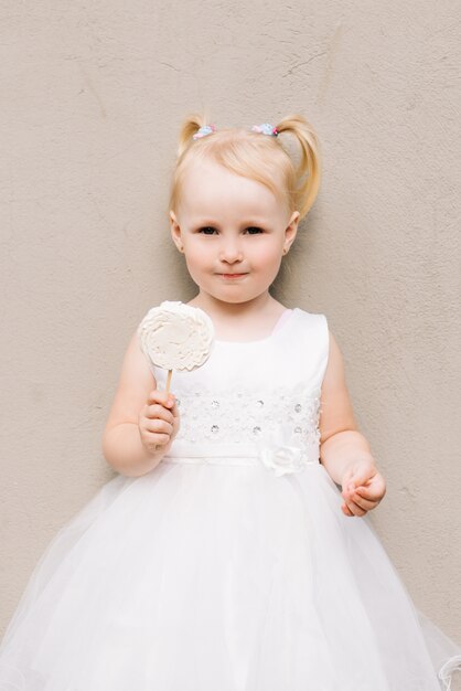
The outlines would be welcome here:
M 107 463 L 121 475 L 139 477 L 149 472 L 171 448 L 173 437 L 170 438 L 172 425 L 169 421 L 172 415 L 178 415 L 178 411 L 175 404 L 168 406 L 171 413 L 163 407 L 167 401 L 163 392 L 159 392 L 157 397 L 157 401 L 164 398 L 163 405 L 159 406 L 163 421 L 159 419 L 157 424 L 160 435 L 158 440 L 162 446 L 158 451 L 149 451 L 141 440 L 140 413 L 149 402 L 153 403 L 151 394 L 156 389 L 156 379 L 135 332 L 125 354 L 120 381 L 103 435 L 103 454 Z

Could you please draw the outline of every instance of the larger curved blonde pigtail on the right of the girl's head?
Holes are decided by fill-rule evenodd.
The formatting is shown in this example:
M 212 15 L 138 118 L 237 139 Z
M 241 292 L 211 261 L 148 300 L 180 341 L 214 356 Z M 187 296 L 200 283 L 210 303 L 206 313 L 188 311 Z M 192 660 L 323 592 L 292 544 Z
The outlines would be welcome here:
M 301 160 L 296 169 L 297 189 L 293 193 L 301 219 L 315 201 L 321 181 L 320 142 L 312 125 L 302 115 L 290 115 L 276 125 L 279 134 L 291 132 L 301 147 Z

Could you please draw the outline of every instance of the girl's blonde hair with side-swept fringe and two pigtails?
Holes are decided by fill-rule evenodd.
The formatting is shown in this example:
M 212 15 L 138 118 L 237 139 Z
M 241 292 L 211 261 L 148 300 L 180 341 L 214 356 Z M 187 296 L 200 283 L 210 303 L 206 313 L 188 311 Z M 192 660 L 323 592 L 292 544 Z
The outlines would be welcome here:
M 303 116 L 290 115 L 280 120 L 276 125 L 277 137 L 234 128 L 194 140 L 193 135 L 206 124 L 205 116 L 191 115 L 182 125 L 171 181 L 171 210 L 178 209 L 187 166 L 211 158 L 238 176 L 265 184 L 286 203 L 290 213 L 299 211 L 301 219 L 308 213 L 320 187 L 321 155 L 317 134 Z M 280 143 L 280 135 L 285 134 L 293 135 L 300 145 L 298 164 Z

